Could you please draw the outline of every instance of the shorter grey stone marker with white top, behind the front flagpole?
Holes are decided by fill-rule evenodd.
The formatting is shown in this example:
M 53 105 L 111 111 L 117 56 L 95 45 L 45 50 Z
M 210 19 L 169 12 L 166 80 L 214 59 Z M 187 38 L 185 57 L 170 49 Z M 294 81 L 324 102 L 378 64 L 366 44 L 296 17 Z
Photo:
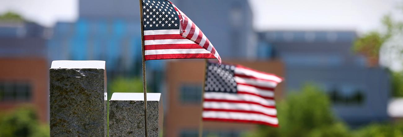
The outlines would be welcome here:
M 148 137 L 158 137 L 163 115 L 161 93 L 147 93 Z M 109 136 L 144 137 L 144 130 L 144 94 L 113 93 L 109 100 Z

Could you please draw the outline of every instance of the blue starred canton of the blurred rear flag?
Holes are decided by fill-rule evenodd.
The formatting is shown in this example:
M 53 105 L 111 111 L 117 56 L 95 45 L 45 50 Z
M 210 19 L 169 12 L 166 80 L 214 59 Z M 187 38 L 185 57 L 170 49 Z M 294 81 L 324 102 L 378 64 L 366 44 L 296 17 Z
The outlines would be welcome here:
M 234 65 L 218 65 L 217 63 L 208 62 L 204 91 L 237 93 L 234 70 Z

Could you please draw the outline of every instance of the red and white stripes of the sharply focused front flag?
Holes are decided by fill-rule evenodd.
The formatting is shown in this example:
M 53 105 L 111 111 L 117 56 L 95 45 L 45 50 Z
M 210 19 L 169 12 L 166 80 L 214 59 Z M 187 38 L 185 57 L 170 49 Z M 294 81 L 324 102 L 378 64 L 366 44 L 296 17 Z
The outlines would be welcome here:
M 171 2 L 172 4 L 172 2 Z M 203 32 L 174 4 L 179 15 L 178 30 L 144 31 L 145 60 L 221 57 Z

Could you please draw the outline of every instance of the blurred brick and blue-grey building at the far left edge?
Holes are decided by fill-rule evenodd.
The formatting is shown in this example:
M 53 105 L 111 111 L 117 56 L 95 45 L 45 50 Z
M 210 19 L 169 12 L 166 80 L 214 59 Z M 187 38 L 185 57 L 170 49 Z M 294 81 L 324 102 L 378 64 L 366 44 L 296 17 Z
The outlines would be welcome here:
M 46 32 L 35 23 L 0 22 L 0 110 L 30 104 L 48 121 Z

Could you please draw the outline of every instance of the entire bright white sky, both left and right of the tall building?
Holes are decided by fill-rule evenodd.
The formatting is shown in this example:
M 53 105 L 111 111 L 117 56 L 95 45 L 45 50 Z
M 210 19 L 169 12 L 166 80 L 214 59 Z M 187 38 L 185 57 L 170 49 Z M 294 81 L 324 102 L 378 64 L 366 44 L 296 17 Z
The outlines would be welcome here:
M 356 30 L 380 27 L 380 18 L 396 12 L 403 0 L 249 0 L 254 28 L 264 30 Z M 75 21 L 78 0 L 0 0 L 0 14 L 9 10 L 51 27 L 58 20 Z M 135 8 L 135 7 L 134 7 Z M 401 16 L 402 17 L 402 16 Z

